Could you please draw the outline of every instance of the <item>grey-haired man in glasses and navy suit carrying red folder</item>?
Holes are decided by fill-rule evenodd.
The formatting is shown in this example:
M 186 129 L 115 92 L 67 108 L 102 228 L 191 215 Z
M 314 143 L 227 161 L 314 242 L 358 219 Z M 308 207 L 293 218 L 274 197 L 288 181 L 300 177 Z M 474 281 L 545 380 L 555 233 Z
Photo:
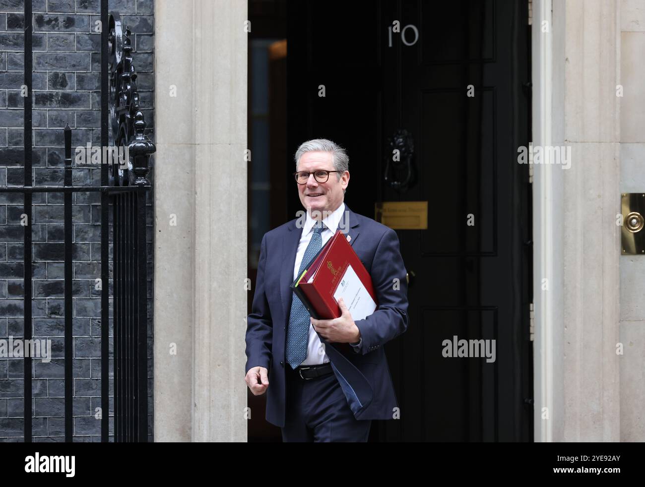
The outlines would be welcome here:
M 396 232 L 344 204 L 349 158 L 326 139 L 295 153 L 306 214 L 264 234 L 246 330 L 246 384 L 267 392 L 266 420 L 283 441 L 367 441 L 372 419 L 398 419 L 383 345 L 408 328 L 406 269 Z M 372 276 L 377 310 L 353 321 L 310 317 L 290 289 L 340 228 Z

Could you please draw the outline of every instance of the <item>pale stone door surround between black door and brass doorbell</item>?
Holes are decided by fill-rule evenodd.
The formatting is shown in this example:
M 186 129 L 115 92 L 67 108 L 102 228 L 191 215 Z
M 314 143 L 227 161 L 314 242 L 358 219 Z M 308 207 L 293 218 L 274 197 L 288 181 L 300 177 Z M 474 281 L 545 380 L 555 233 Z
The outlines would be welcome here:
M 550 3 L 538 0 L 534 12 Z M 619 441 L 619 0 L 552 7 L 548 32 L 533 27 L 550 36 L 533 44 L 534 79 L 550 86 L 549 103 L 534 98 L 534 129 L 548 130 L 533 144 L 570 146 L 571 167 L 534 168 L 535 439 Z

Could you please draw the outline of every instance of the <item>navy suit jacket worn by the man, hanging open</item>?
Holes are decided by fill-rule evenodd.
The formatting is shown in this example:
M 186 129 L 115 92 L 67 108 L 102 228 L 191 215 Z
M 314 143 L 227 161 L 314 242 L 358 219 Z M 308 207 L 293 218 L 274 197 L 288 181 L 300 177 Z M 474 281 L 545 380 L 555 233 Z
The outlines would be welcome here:
M 304 211 L 304 210 L 303 210 Z M 268 370 L 266 421 L 284 427 L 286 327 L 292 303 L 293 266 L 302 228 L 298 219 L 285 223 L 262 238 L 253 295 L 247 318 L 246 372 L 262 366 Z M 356 214 L 345 204 L 339 227 L 350 235 L 350 244 L 372 276 L 379 301 L 377 310 L 355 321 L 361 343 L 327 343 L 321 337 L 348 404 L 356 419 L 393 419 L 398 408 L 383 345 L 408 328 L 408 285 L 392 228 Z

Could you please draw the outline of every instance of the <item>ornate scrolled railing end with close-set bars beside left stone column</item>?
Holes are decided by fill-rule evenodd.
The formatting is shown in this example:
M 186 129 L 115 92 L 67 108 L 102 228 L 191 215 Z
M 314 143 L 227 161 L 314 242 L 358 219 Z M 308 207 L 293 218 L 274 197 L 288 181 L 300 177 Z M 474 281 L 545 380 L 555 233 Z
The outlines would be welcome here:
M 109 96 L 112 147 L 127 147 L 127 166 L 112 165 L 110 188 L 134 191 L 111 196 L 114 224 L 114 435 L 115 441 L 148 437 L 148 308 L 146 266 L 146 179 L 155 146 L 144 134 L 131 33 L 121 17 L 108 22 Z M 102 85 L 103 86 L 103 85 Z M 103 207 L 105 210 L 107 206 Z M 107 394 L 105 394 L 107 395 Z

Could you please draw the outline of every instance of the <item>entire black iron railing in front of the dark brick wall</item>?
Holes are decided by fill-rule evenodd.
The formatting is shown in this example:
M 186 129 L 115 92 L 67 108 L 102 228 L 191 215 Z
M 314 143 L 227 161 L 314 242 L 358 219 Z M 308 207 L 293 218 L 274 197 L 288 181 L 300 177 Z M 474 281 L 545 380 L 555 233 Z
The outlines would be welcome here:
M 101 441 L 110 430 L 109 244 L 113 243 L 114 323 L 114 441 L 147 441 L 147 250 L 146 192 L 150 190 L 150 155 L 155 146 L 144 134 L 139 110 L 130 31 L 121 18 L 108 16 L 108 0 L 101 0 L 101 149 L 127 148 L 127 160 L 114 164 L 101 150 L 101 186 L 74 186 L 72 130 L 64 129 L 64 186 L 32 184 L 32 3 L 25 1 L 25 181 L 23 186 L 0 187 L 0 193 L 25 195 L 24 338 L 32 339 L 32 194 L 63 193 L 64 203 L 64 424 L 65 441 L 73 437 L 72 399 L 72 193 L 101 194 Z M 105 28 L 107 26 L 107 28 Z M 110 144 L 111 145 L 108 145 Z M 109 153 L 108 153 L 109 154 Z M 112 235 L 110 235 L 112 208 Z M 32 441 L 32 357 L 25 354 L 25 442 Z

